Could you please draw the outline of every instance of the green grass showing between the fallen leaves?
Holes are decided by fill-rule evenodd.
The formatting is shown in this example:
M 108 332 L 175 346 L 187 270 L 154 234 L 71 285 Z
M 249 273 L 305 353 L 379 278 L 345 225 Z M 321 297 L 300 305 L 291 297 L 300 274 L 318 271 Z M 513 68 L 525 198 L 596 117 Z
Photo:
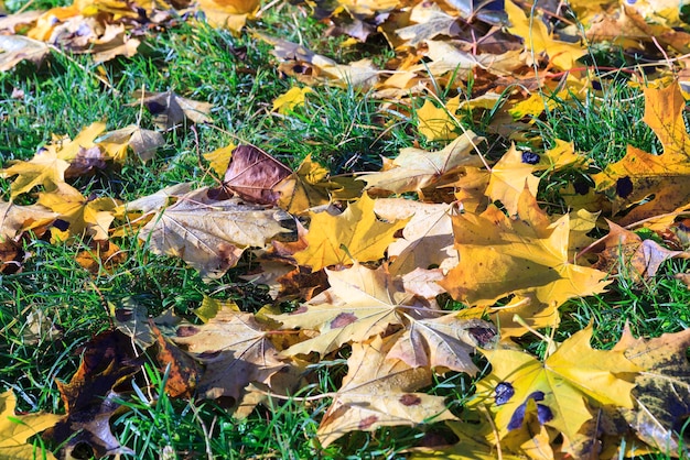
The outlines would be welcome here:
M 34 7 L 52 4 L 41 1 Z M 17 2 L 7 6 L 20 8 Z M 299 17 L 299 23 L 284 20 L 292 14 Z M 342 39 L 325 37 L 324 24 L 301 14 L 300 9 L 283 4 L 280 14 L 267 12 L 255 25 L 274 36 L 303 41 L 338 62 L 359 57 L 384 62 L 391 56 L 389 50 L 379 47 L 358 52 L 339 47 Z M 106 83 L 97 78 L 101 75 Z M 381 101 L 371 92 L 353 88 L 314 87 L 304 107 L 284 116 L 272 113 L 273 99 L 293 85 L 301 86 L 279 75 L 267 44 L 246 33 L 236 36 L 201 24 L 182 23 L 148 41 L 132 58 L 104 65 L 54 52 L 39 69 L 22 64 L 0 74 L 0 158 L 2 165 L 31 158 L 53 134 L 75 136 L 95 121 L 106 121 L 109 130 L 131 123 L 152 128 L 151 116 L 140 112 L 136 103 L 136 94 L 142 88 L 171 89 L 212 102 L 214 123 L 196 127 L 197 138 L 187 127 L 165 132 L 165 145 L 154 160 L 148 164 L 130 160 L 120 168 L 80 179 L 83 190 L 128 201 L 182 182 L 214 184 L 198 154 L 229 143 L 254 143 L 290 167 L 311 154 L 341 174 L 376 171 L 381 156 L 392 157 L 419 141 L 413 112 L 382 112 Z M 23 91 L 22 99 L 11 97 L 15 89 Z M 421 107 L 422 102 L 418 98 L 414 105 Z M 477 113 L 461 117 L 464 127 L 489 138 L 488 144 L 502 154 L 509 140 L 489 132 L 490 113 Z M 659 151 L 655 135 L 639 122 L 643 114 L 639 90 L 622 79 L 604 80 L 600 91 L 583 99 L 558 100 L 556 109 L 535 120 L 529 135 L 539 135 L 545 149 L 556 139 L 573 141 L 578 151 L 593 160 L 592 171 L 601 169 L 619 160 L 627 144 Z M 427 144 L 422 141 L 422 145 Z M 578 174 L 551 177 L 551 188 L 545 187 L 540 198 L 557 201 L 559 187 L 553 184 L 565 184 Z M 0 190 L 2 198 L 9 199 L 9 180 L 0 179 Z M 168 309 L 191 315 L 204 295 L 212 293 L 236 300 L 246 311 L 257 311 L 271 302 L 266 289 L 240 278 L 252 264 L 249 256 L 223 278 L 208 283 L 181 260 L 152 254 L 136 236 L 117 243 L 126 259 L 109 273 L 93 275 L 75 261 L 75 253 L 88 242 L 52 244 L 31 239 L 24 243 L 29 256 L 23 270 L 0 274 L 0 386 L 14 390 L 20 409 L 63 410 L 55 382 L 68 381 L 79 364 L 79 348 L 110 328 L 112 305 L 133 302 L 155 316 Z M 626 322 L 636 337 L 686 329 L 690 293 L 673 274 L 688 266 L 684 261 L 666 262 L 653 280 L 638 284 L 622 270 L 606 294 L 571 300 L 561 308 L 562 324 L 556 338 L 567 339 L 591 321 L 597 348 L 611 348 Z M 37 332 L 30 330 L 29 314 L 44 318 Z M 543 351 L 545 344 L 532 336 L 524 343 L 536 353 Z M 122 399 L 122 409 L 111 419 L 112 431 L 137 452 L 125 458 L 142 459 L 175 458 L 175 453 L 187 458 L 192 452 L 227 459 L 403 458 L 407 449 L 425 439 L 453 439 L 442 424 L 432 424 L 421 429 L 352 432 L 325 450 L 316 446 L 319 421 L 331 399 L 301 398 L 337 390 L 345 358 L 315 365 L 308 385 L 294 398 L 272 401 L 241 420 L 216 402 L 168 397 L 165 374 L 149 364 L 145 377 L 134 381 L 131 395 Z M 477 363 L 488 371 L 485 361 L 477 358 Z M 147 381 L 151 384 L 148 390 Z M 428 391 L 446 397 L 449 407 L 462 415 L 475 382 L 464 374 L 448 373 L 436 376 Z M 90 456 L 88 449 L 77 453 Z

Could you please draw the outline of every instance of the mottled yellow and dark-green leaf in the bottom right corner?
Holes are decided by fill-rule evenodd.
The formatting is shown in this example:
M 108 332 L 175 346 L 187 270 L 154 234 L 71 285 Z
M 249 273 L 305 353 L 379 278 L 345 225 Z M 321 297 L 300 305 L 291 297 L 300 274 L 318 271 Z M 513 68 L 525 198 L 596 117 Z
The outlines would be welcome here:
M 614 347 L 643 369 L 633 388 L 636 407 L 624 410 L 625 419 L 642 440 L 670 456 L 688 454 L 688 436 L 680 436 L 690 414 L 688 347 L 690 329 L 635 339 L 627 326 Z

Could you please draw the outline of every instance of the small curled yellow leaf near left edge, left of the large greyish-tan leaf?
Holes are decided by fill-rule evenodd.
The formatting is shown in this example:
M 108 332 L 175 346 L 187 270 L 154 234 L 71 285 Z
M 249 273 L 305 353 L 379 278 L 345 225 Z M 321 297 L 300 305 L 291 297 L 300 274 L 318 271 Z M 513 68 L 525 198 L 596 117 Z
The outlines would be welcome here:
M 61 184 L 55 191 L 40 194 L 37 202 L 57 212 L 60 219 L 68 223 L 64 231 L 51 229 L 53 239 L 61 240 L 83 233 L 96 240 L 107 240 L 110 222 L 115 219 L 114 210 L 118 206 L 112 198 L 86 198 L 67 184 Z

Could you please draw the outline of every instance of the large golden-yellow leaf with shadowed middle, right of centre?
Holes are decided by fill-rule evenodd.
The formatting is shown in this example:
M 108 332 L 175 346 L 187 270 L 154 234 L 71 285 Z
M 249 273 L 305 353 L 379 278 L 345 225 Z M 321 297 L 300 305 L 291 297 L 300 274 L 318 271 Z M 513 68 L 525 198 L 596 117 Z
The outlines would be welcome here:
M 441 286 L 470 305 L 492 305 L 509 294 L 533 293 L 545 306 L 558 306 L 572 297 L 604 292 L 611 283 L 602 281 L 606 273 L 570 260 L 570 216 L 547 226 L 549 219 L 529 190 L 524 194 L 530 199 L 519 205 L 517 219 L 495 207 L 478 216 L 452 217 L 460 263 Z M 535 221 L 540 213 L 541 224 Z

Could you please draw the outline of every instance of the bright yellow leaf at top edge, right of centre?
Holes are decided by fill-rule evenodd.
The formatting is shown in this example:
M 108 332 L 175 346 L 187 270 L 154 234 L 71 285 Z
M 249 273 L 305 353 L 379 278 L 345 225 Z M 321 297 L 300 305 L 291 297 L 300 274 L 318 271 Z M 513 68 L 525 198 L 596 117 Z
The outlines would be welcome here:
M 535 54 L 549 55 L 551 63 L 561 70 L 572 68 L 575 61 L 587 52 L 575 43 L 561 42 L 551 37 L 541 18 L 527 18 L 522 9 L 506 0 L 506 13 L 513 26 L 508 32 L 522 37 L 525 48 Z

